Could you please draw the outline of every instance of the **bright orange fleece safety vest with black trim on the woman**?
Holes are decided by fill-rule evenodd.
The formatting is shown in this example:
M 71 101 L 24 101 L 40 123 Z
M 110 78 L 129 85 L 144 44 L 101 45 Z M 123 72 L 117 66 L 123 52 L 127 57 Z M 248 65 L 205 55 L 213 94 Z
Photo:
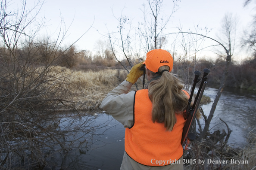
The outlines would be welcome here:
M 187 92 L 186 95 L 189 97 Z M 175 163 L 183 155 L 183 115 L 176 114 L 177 121 L 172 131 L 166 131 L 164 123 L 153 123 L 151 112 L 148 90 L 137 91 L 134 98 L 134 125 L 125 129 L 125 152 L 134 161 L 146 166 Z

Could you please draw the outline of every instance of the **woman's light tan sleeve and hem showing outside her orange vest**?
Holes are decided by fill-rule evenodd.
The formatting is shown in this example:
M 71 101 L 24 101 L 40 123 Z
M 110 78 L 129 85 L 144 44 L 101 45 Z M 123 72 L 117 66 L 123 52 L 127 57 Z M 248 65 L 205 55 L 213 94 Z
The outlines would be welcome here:
M 110 91 L 103 99 L 100 108 L 108 112 L 117 121 L 122 123 L 125 128 L 133 125 L 133 104 L 135 91 L 131 89 L 132 83 L 122 82 L 118 87 Z M 162 167 L 150 167 L 137 163 L 130 158 L 126 152 L 120 170 L 183 170 L 182 157 L 179 164 L 166 165 Z

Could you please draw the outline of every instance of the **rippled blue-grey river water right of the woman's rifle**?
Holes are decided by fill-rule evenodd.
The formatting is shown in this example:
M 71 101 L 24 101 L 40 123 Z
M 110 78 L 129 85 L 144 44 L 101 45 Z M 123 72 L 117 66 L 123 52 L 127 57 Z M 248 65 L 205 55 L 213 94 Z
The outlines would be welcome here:
M 209 115 L 217 91 L 215 88 L 206 88 L 204 94 L 212 100 L 211 103 L 202 106 L 207 116 Z M 255 93 L 236 88 L 225 88 L 215 109 L 214 117 L 212 118 L 210 125 L 211 131 L 225 129 L 227 132 L 226 125 L 219 119 L 222 118 L 232 130 L 228 143 L 243 147 L 246 144 L 250 126 L 255 125 L 256 122 L 256 115 L 253 113 L 256 109 L 255 103 Z

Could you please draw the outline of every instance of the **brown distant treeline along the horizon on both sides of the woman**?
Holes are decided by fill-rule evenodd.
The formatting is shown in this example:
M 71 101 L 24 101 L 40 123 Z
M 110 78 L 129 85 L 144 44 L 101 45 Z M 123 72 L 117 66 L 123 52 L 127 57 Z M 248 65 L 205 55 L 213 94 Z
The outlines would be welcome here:
M 1 52 L 3 52 L 3 49 L 4 48 L 1 49 Z M 99 71 L 106 68 L 124 69 L 124 67 L 116 61 L 109 49 L 93 55 L 90 51 L 78 51 L 75 46 L 71 46 L 66 50 L 57 50 L 56 52 L 59 53 L 57 58 L 55 57 L 56 52 L 54 54 L 49 49 L 51 49 L 49 45 L 46 46 L 44 44 L 34 48 L 33 58 L 30 58 L 32 62 L 30 61 L 30 63 L 35 67 L 51 63 L 52 65 L 59 65 L 73 70 L 86 71 Z M 31 53 L 31 51 L 27 49 L 27 46 L 16 49 L 18 60 L 28 60 L 30 57 L 30 55 L 26 54 L 28 52 Z M 2 58 L 0 58 L 0 60 L 1 59 Z M 128 70 L 131 69 L 131 66 L 129 66 L 126 60 L 121 62 Z M 138 61 L 134 60 L 134 64 L 137 62 Z M 224 72 L 225 62 L 226 61 L 223 58 L 218 58 L 215 61 L 200 59 L 196 64 L 194 61 L 179 60 L 174 63 L 173 72 L 183 79 L 186 79 L 187 75 L 190 79 L 191 77 L 193 79 L 195 70 L 203 72 L 204 68 L 209 68 L 211 72 L 208 76 L 208 82 L 211 84 L 219 84 Z M 228 71 L 226 86 L 256 91 L 256 55 L 250 59 L 244 60 L 240 64 L 232 61 Z

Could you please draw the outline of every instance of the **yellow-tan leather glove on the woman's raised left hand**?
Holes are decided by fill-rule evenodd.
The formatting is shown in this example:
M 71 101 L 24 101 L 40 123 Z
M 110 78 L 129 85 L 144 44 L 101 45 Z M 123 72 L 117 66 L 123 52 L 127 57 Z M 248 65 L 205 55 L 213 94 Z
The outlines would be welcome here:
M 136 83 L 137 80 L 140 78 L 140 76 L 143 75 L 143 70 L 140 70 L 140 68 L 143 65 L 143 62 L 140 62 L 139 64 L 134 65 L 131 68 L 130 73 L 126 76 L 126 81 L 131 82 L 132 84 Z

